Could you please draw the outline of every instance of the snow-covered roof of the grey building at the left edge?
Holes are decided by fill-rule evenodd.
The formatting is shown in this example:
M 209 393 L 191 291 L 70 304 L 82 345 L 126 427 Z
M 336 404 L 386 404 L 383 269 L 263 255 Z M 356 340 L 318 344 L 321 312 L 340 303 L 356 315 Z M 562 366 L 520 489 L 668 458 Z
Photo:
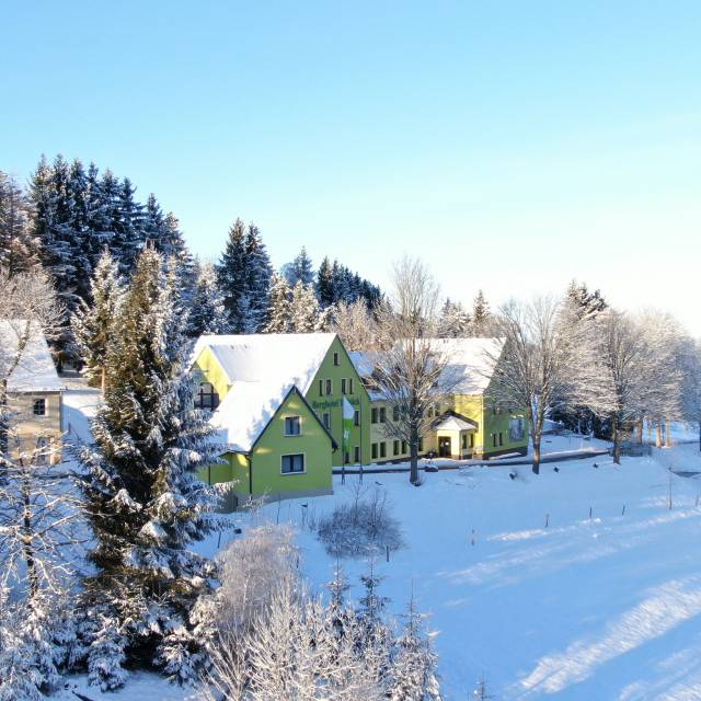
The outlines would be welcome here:
M 0 378 L 14 364 L 20 340 L 26 338 L 20 361 L 8 378 L 9 392 L 57 392 L 64 387 L 39 324 L 0 319 Z

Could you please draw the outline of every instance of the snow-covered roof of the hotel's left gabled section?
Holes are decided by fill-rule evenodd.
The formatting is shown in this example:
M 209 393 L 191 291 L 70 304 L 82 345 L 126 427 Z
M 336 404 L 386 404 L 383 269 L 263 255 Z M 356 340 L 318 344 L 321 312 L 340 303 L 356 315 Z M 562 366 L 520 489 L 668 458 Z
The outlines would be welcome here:
M 335 338 L 333 333 L 204 335 L 231 390 L 212 412 L 218 439 L 248 452 L 292 388 L 303 397 Z

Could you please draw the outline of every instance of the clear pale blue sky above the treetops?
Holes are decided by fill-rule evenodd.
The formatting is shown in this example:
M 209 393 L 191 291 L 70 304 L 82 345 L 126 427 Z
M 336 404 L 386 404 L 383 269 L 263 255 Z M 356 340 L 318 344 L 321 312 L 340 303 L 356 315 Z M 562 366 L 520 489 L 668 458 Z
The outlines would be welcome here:
M 94 160 L 214 257 L 237 217 L 493 303 L 572 277 L 701 334 L 701 3 L 14 2 L 0 169 Z

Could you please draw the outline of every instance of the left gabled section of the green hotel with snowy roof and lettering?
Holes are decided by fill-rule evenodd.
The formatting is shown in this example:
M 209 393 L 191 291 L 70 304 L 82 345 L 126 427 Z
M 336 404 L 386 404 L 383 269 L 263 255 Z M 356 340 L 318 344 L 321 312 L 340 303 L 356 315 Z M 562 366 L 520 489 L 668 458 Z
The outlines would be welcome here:
M 330 494 L 332 468 L 370 461 L 370 400 L 335 334 L 204 335 L 197 405 L 223 446 L 210 483 L 249 496 Z

